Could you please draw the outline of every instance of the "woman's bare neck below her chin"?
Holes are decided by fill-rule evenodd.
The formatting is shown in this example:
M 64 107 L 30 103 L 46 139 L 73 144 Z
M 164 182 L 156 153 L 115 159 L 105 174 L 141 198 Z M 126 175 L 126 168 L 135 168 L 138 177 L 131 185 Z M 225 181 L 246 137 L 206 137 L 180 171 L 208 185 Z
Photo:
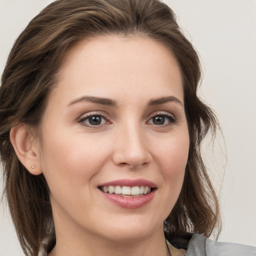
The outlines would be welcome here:
M 169 256 L 163 230 L 141 239 L 109 240 L 93 233 L 56 232 L 56 245 L 49 256 Z

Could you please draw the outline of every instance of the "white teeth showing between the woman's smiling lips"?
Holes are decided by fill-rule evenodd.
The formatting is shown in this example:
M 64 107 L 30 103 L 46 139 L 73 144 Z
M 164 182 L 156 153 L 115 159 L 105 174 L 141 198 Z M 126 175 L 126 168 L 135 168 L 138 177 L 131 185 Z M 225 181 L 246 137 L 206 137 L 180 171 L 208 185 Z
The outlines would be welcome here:
M 99 186 L 101 191 L 123 197 L 138 197 L 150 193 L 154 187 L 149 186 Z

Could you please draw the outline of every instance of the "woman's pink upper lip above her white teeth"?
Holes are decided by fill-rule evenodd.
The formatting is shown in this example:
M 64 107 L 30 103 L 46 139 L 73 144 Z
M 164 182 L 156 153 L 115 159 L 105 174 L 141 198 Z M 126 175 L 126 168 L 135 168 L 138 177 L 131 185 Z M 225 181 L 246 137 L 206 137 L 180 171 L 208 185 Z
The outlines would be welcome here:
M 117 179 L 108 181 L 98 186 L 149 186 L 149 187 L 156 187 L 156 184 L 152 181 L 139 178 L 139 179 Z

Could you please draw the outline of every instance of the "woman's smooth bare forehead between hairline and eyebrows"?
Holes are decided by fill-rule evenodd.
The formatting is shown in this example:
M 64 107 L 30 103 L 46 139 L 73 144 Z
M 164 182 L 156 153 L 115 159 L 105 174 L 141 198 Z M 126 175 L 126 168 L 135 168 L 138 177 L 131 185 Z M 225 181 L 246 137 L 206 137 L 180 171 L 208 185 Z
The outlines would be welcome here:
M 104 35 L 80 41 L 67 52 L 58 78 L 57 88 L 68 97 L 77 93 L 110 98 L 157 91 L 169 94 L 170 88 L 183 93 L 171 51 L 160 42 L 138 36 Z

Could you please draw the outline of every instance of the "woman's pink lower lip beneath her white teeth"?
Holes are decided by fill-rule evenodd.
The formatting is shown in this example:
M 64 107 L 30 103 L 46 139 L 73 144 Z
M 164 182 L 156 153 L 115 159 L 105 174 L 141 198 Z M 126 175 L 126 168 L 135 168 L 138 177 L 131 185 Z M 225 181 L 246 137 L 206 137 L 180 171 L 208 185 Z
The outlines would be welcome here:
M 101 190 L 99 191 L 102 193 L 103 196 L 105 196 L 106 199 L 122 208 L 136 209 L 149 203 L 154 196 L 155 190 L 156 189 L 152 190 L 148 194 L 144 194 L 137 197 L 123 197 L 118 194 L 109 194 Z

